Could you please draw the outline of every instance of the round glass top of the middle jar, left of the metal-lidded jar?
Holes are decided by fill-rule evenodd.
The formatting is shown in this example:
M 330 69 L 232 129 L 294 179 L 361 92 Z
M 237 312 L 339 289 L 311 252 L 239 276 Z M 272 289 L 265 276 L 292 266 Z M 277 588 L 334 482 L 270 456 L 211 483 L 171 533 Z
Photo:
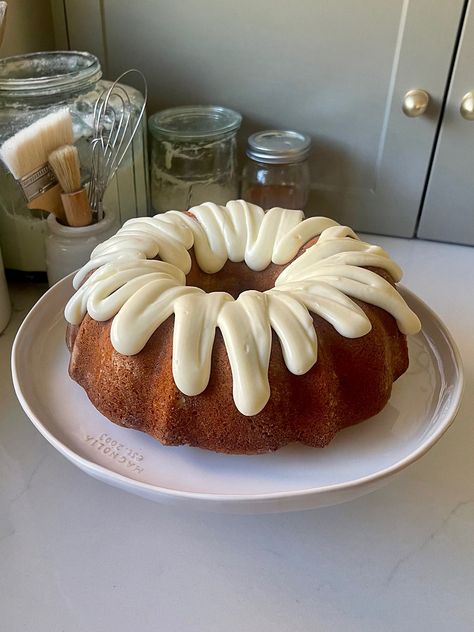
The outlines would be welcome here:
M 217 105 L 186 105 L 169 108 L 149 118 L 150 132 L 156 138 L 207 140 L 226 136 L 239 129 L 242 116 Z

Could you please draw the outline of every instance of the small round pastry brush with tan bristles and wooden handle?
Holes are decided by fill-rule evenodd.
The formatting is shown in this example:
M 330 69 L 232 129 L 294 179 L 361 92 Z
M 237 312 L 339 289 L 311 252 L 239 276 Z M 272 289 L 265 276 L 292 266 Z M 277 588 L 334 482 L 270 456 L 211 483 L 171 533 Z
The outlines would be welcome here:
M 81 186 L 79 152 L 74 145 L 58 147 L 49 155 L 49 165 L 63 193 L 61 200 L 69 226 L 88 226 L 92 211 L 86 190 Z

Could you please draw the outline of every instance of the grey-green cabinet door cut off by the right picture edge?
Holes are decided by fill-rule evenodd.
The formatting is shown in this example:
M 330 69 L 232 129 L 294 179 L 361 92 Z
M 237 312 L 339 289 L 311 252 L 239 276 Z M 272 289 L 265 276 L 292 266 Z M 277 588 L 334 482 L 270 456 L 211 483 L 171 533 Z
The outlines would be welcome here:
M 474 6 L 469 2 L 428 180 L 418 236 L 474 245 L 474 120 L 461 115 L 474 98 Z

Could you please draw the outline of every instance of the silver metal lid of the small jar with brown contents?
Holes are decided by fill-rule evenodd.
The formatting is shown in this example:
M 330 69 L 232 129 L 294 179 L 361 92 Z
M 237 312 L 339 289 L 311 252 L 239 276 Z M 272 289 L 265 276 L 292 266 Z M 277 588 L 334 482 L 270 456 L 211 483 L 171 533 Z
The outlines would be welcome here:
M 249 136 L 247 156 L 259 162 L 289 164 L 305 160 L 311 149 L 307 134 L 271 129 Z

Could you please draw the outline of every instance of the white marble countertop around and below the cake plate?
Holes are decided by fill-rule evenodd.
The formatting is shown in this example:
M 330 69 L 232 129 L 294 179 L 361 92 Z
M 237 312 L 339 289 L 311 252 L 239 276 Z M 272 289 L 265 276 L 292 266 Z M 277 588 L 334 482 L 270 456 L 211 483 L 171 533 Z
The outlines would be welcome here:
M 474 248 L 371 238 L 453 334 L 466 388 L 421 460 L 352 502 L 259 516 L 190 512 L 90 478 L 13 391 L 15 333 L 44 287 L 11 287 L 0 336 L 0 629 L 471 632 Z

